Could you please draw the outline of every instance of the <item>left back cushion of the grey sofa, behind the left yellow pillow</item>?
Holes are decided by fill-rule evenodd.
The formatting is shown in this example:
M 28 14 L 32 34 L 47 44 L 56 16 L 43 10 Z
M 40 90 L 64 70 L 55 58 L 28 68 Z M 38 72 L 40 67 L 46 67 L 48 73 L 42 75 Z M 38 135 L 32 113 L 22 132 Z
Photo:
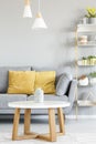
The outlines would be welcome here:
M 0 93 L 6 93 L 8 89 L 9 71 L 30 71 L 31 66 L 0 66 Z

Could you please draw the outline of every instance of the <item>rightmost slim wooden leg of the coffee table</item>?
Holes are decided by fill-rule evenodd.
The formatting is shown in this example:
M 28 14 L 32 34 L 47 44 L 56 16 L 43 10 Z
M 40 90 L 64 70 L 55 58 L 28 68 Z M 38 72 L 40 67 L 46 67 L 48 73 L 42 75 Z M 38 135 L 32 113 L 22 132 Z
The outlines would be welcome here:
M 57 109 L 57 116 L 58 116 L 58 124 L 60 124 L 60 133 L 65 134 L 65 127 L 64 127 L 64 115 L 62 107 Z

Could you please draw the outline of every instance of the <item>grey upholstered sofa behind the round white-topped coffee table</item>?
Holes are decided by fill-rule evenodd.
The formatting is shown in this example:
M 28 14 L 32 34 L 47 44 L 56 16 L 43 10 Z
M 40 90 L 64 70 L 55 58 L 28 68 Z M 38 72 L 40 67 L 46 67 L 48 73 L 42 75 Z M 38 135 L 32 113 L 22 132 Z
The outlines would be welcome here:
M 1 66 L 0 68 L 0 114 L 13 114 L 14 110 L 8 106 L 9 102 L 14 101 L 32 101 L 34 99 L 33 95 L 26 94 L 8 94 L 8 72 L 9 71 L 31 71 L 32 66 Z M 43 70 L 42 70 L 43 71 Z M 56 75 L 58 80 L 58 75 Z M 57 82 L 56 82 L 57 84 Z M 73 103 L 75 100 L 75 89 L 76 89 L 76 81 L 72 80 L 71 85 L 68 88 L 67 95 L 53 95 L 53 94 L 45 94 L 44 100 L 46 101 L 68 101 L 71 102 L 71 106 L 64 109 L 64 113 L 67 114 L 71 112 L 73 107 Z M 22 111 L 23 113 L 23 111 Z M 46 111 L 33 110 L 33 114 L 45 114 Z

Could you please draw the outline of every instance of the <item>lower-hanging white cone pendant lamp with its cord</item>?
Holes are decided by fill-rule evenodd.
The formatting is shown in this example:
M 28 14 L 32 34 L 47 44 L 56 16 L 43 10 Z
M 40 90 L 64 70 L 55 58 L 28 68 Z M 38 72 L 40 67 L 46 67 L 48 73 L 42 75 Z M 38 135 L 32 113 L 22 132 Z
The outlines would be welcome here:
M 40 12 L 40 0 L 39 0 L 39 12 L 36 13 L 36 18 L 33 22 L 32 29 L 47 29 L 44 19 Z

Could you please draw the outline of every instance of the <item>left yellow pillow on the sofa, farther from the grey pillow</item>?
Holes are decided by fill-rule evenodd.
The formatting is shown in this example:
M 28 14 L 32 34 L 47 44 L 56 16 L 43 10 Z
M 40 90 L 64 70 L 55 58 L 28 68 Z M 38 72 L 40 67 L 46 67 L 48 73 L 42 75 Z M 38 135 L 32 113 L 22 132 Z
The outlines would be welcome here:
M 9 71 L 8 93 L 32 94 L 34 80 L 35 71 Z

